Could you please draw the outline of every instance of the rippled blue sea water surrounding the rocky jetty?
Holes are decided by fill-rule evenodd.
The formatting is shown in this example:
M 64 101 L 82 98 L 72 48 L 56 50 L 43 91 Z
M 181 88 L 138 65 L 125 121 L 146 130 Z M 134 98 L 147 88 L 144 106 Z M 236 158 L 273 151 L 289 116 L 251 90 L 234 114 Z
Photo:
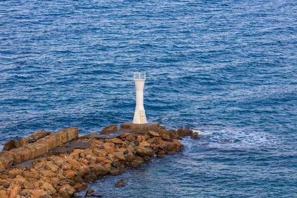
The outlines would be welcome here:
M 296 1 L 1 0 L 0 147 L 131 121 L 141 69 L 148 121 L 199 139 L 96 193 L 297 197 L 296 51 Z

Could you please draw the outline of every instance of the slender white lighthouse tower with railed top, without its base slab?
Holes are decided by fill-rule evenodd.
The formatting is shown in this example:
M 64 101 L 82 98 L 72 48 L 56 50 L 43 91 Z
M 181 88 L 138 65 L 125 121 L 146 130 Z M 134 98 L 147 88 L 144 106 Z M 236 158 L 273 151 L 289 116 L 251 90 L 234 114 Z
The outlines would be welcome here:
M 134 112 L 133 124 L 145 124 L 147 122 L 144 107 L 144 87 L 146 82 L 146 72 L 134 72 L 134 82 L 136 88 L 136 107 Z

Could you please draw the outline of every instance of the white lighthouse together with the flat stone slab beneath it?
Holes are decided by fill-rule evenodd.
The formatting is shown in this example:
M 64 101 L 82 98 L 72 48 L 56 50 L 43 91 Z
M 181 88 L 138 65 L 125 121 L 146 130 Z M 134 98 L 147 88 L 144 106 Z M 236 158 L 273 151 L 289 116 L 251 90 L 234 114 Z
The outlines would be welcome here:
M 160 126 L 158 122 L 148 122 L 144 107 L 144 88 L 146 82 L 146 72 L 134 72 L 134 83 L 136 88 L 136 107 L 132 122 L 121 124 L 121 129 L 129 130 L 152 130 Z

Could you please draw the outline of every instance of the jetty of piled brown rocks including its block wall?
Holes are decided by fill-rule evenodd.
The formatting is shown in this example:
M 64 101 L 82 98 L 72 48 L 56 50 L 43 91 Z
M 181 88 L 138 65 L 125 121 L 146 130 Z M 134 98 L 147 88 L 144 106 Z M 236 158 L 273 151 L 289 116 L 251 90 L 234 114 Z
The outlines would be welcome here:
M 114 130 L 116 128 L 112 126 L 103 133 Z M 33 143 L 27 139 L 21 147 L 0 153 L 0 198 L 76 197 L 77 192 L 85 191 L 88 184 L 106 175 L 122 174 L 125 167 L 138 167 L 151 157 L 162 158 L 180 151 L 183 145 L 178 140 L 184 136 L 197 134 L 189 129 L 176 131 L 159 127 L 107 139 L 94 134 L 78 138 L 77 128 L 46 136 L 31 135 Z M 90 147 L 59 153 L 50 151 L 69 141 L 89 143 Z M 28 159 L 32 166 L 11 167 Z M 124 183 L 123 180 L 115 186 L 124 186 Z

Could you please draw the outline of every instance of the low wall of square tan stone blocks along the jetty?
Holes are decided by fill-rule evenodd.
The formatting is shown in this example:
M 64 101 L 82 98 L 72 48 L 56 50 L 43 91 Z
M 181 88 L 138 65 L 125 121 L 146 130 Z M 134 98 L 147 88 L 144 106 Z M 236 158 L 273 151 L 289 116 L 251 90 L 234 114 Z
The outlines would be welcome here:
M 52 148 L 75 138 L 78 138 L 78 128 L 67 128 L 39 139 L 35 143 L 3 151 L 0 153 L 0 172 L 11 165 L 46 154 Z

